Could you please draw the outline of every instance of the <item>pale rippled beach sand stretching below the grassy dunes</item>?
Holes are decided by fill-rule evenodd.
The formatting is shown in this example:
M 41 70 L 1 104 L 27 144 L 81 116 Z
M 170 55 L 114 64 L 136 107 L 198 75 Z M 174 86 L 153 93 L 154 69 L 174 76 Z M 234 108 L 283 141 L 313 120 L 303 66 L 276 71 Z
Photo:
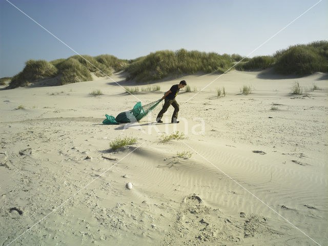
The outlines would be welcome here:
M 217 77 L 134 96 L 108 78 L 1 90 L 0 245 L 327 245 L 327 74 Z M 161 104 L 138 124 L 101 124 L 181 79 L 215 81 L 180 91 L 179 124 L 172 107 L 154 124 Z M 307 95 L 291 95 L 295 81 Z M 185 138 L 161 141 L 175 131 Z M 138 141 L 113 151 L 118 136 Z

